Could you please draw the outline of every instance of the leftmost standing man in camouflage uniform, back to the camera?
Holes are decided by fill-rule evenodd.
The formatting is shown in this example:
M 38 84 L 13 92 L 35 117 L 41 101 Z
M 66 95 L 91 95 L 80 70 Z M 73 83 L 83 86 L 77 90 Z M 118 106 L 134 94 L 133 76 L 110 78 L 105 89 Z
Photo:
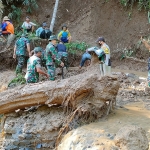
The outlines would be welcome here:
M 22 73 L 22 68 L 25 64 L 25 56 L 26 56 L 26 48 L 29 53 L 29 57 L 31 56 L 30 53 L 30 43 L 28 38 L 26 38 L 25 34 L 22 34 L 21 38 L 19 38 L 14 47 L 14 54 L 13 58 L 18 61 L 17 67 L 16 67 L 16 75 L 18 73 Z

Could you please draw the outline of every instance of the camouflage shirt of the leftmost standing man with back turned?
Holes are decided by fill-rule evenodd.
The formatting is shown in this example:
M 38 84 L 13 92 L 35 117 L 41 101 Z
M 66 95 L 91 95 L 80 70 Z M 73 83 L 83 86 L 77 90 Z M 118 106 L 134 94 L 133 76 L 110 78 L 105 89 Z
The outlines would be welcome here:
M 16 55 L 17 56 L 25 56 L 26 55 L 26 47 L 29 44 L 29 40 L 25 37 L 21 37 L 16 41 Z

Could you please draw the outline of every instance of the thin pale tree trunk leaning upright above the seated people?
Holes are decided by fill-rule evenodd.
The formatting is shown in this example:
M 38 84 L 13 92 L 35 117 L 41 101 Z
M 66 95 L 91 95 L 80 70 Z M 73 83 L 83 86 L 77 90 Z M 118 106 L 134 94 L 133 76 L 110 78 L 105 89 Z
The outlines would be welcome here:
M 50 24 L 50 30 L 52 32 L 53 32 L 53 29 L 54 29 L 56 14 L 57 14 L 57 10 L 58 10 L 58 4 L 59 4 L 59 0 L 56 0 L 55 6 L 54 6 L 54 11 L 53 11 L 53 16 L 52 16 L 52 20 L 51 20 L 51 24 Z

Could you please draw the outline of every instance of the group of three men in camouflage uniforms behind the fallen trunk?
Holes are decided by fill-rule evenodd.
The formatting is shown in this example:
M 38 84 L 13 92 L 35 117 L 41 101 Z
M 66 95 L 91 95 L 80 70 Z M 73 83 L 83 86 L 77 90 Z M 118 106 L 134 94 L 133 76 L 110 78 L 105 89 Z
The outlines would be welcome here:
M 30 51 L 29 40 L 25 34 L 19 38 L 15 43 L 13 58 L 18 61 L 16 67 L 16 74 L 22 73 L 22 68 L 25 63 L 26 48 L 29 54 L 27 61 L 27 73 L 25 75 L 27 83 L 36 83 L 39 81 L 39 73 L 43 74 L 50 80 L 55 80 L 55 66 L 64 67 L 64 63 L 61 61 L 61 57 L 56 50 L 57 36 L 52 35 L 49 38 L 49 44 L 46 46 L 44 52 L 44 58 L 46 60 L 47 73 L 41 69 L 41 56 L 43 50 L 41 47 L 34 48 L 34 55 Z

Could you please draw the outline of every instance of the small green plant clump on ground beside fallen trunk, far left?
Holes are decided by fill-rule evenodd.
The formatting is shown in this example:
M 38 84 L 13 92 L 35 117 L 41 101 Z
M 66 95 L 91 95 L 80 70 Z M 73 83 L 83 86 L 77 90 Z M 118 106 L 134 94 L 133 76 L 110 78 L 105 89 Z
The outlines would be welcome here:
M 15 87 L 17 85 L 25 84 L 26 80 L 22 74 L 18 74 L 16 78 L 10 81 L 8 87 Z

